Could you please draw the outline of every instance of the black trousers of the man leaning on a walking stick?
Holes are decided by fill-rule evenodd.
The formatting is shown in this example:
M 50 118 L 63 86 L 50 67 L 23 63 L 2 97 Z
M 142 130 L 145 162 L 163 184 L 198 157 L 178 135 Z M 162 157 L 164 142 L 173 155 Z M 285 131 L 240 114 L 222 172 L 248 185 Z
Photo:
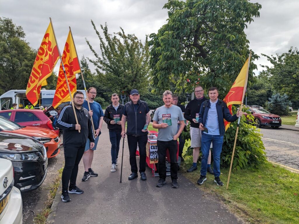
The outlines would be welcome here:
M 134 137 L 132 135 L 127 135 L 128 137 L 128 145 L 129 145 L 129 152 L 130 152 L 130 165 L 131 165 L 131 172 L 137 173 L 137 162 L 136 162 L 136 149 L 137 143 L 139 147 L 139 172 L 145 172 L 145 163 L 147 159 L 147 152 L 146 152 L 146 145 L 147 145 L 147 135 Z

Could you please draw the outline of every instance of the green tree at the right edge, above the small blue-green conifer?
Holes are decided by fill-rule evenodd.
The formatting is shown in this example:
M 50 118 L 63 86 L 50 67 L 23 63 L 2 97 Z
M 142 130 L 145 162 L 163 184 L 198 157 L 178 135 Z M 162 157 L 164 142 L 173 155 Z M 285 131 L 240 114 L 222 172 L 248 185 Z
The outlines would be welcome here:
M 273 65 L 266 67 L 274 89 L 280 94 L 286 93 L 293 102 L 299 99 L 299 51 L 291 47 L 287 53 L 267 56 Z M 297 105 L 298 106 L 298 105 Z

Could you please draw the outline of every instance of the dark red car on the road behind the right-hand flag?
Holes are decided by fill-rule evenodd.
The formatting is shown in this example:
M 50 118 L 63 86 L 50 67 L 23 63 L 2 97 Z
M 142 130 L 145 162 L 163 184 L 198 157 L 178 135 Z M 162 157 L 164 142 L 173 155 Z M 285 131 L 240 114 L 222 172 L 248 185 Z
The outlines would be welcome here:
M 271 128 L 279 128 L 281 126 L 281 117 L 266 111 L 259 106 L 246 106 L 248 112 L 254 116 L 253 123 L 256 127 L 270 126 Z M 246 114 L 245 114 L 246 115 Z

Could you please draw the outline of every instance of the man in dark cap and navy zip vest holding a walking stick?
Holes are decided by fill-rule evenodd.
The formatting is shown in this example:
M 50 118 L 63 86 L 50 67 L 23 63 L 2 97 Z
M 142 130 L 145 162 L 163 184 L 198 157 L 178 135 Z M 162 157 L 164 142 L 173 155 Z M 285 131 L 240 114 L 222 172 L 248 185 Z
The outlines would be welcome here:
M 147 102 L 139 99 L 140 95 L 138 90 L 133 89 L 130 93 L 131 101 L 126 103 L 123 108 L 123 117 L 121 119 L 121 136 L 124 138 L 127 134 L 128 145 L 130 152 L 130 165 L 132 174 L 129 176 L 129 180 L 138 177 L 138 168 L 136 162 L 136 150 L 137 143 L 139 147 L 139 172 L 141 180 L 146 180 L 145 175 L 145 163 L 146 163 L 146 145 L 147 145 L 147 128 L 144 130 L 146 122 L 150 121 L 149 107 Z M 127 120 L 127 131 L 126 129 Z

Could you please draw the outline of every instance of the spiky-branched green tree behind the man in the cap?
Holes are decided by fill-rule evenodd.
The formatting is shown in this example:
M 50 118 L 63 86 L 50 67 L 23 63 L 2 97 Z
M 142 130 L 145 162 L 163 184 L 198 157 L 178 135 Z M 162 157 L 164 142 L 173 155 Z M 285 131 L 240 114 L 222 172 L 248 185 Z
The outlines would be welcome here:
M 87 39 L 86 42 L 96 57 L 89 61 L 96 67 L 99 80 L 112 92 L 124 91 L 128 96 L 132 89 L 138 89 L 141 94 L 146 93 L 149 74 L 147 38 L 143 45 L 134 34 L 125 34 L 121 27 L 120 32 L 112 35 L 105 24 L 100 25 L 103 39 L 92 20 L 91 24 L 100 40 L 101 54 L 94 50 Z

